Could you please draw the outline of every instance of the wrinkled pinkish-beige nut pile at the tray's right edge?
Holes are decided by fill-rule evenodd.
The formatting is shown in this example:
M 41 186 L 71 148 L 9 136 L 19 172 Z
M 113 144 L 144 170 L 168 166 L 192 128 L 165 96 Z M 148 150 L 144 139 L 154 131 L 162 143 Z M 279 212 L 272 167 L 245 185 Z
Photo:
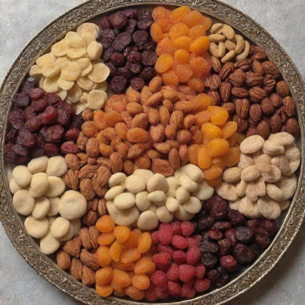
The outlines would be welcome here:
M 216 192 L 247 217 L 276 219 L 296 192 L 294 172 L 301 158 L 294 137 L 280 132 L 265 141 L 253 135 L 239 147 L 238 166 L 224 170 L 224 181 L 215 187 Z

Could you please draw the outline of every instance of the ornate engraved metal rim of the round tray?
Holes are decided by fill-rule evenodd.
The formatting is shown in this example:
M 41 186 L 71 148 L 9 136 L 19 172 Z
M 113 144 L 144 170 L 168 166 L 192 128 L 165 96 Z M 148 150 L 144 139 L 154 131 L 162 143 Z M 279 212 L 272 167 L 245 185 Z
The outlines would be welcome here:
M 9 192 L 6 165 L 3 159 L 4 136 L 7 126 L 7 115 L 11 106 L 11 97 L 16 93 L 21 82 L 27 75 L 30 66 L 43 51 L 50 46 L 52 41 L 58 39 L 64 32 L 75 25 L 84 22 L 101 13 L 118 9 L 130 5 L 188 5 L 198 9 L 213 17 L 216 17 L 231 26 L 238 29 L 242 34 L 252 40 L 255 44 L 260 45 L 266 51 L 269 59 L 274 61 L 282 73 L 285 81 L 289 85 L 292 96 L 297 103 L 297 113 L 301 127 L 301 149 L 302 163 L 300 177 L 296 194 L 292 204 L 283 220 L 283 224 L 268 249 L 256 260 L 256 262 L 244 271 L 237 278 L 232 280 L 226 286 L 214 290 L 204 296 L 198 296 L 191 300 L 181 302 L 171 302 L 171 304 L 223 304 L 233 299 L 242 292 L 248 290 L 264 275 L 269 272 L 282 255 L 287 250 L 292 239 L 300 229 L 305 215 L 304 200 L 304 131 L 305 131 L 305 84 L 300 76 L 296 66 L 283 50 L 281 45 L 257 22 L 246 14 L 218 0 L 175 0 L 174 3 L 152 0 L 109 0 L 104 3 L 103 0 L 89 0 L 73 9 L 68 10 L 59 16 L 44 29 L 42 29 L 34 38 L 32 38 L 26 47 L 19 54 L 9 71 L 0 88 L 0 139 L 1 139 L 1 158 L 0 158 L 0 220 L 20 255 L 34 268 L 43 278 L 61 291 L 74 297 L 85 304 L 149 304 L 143 302 L 134 302 L 119 298 L 102 298 L 97 295 L 94 289 L 85 287 L 80 282 L 72 278 L 65 271 L 61 270 L 57 264 L 49 257 L 43 255 L 36 242 L 27 235 L 23 223 L 13 209 L 12 196 Z M 168 303 L 155 303 L 165 305 Z

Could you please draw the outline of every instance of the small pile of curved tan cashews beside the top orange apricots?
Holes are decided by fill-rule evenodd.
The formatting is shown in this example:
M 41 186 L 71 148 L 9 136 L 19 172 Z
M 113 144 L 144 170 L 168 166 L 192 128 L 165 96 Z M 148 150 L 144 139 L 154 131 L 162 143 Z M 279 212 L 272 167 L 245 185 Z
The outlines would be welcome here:
M 242 36 L 235 34 L 235 30 L 228 24 L 215 23 L 210 27 L 210 53 L 221 58 L 225 63 L 234 56 L 236 60 L 244 59 L 249 54 L 250 44 Z

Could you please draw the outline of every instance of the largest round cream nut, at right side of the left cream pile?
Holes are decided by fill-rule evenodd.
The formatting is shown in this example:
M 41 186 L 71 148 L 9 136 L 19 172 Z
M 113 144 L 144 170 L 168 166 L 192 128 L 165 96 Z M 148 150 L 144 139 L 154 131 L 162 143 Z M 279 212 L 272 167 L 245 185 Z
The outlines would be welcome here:
M 86 213 L 87 200 L 81 192 L 66 191 L 60 198 L 58 210 L 60 216 L 67 220 L 80 218 Z

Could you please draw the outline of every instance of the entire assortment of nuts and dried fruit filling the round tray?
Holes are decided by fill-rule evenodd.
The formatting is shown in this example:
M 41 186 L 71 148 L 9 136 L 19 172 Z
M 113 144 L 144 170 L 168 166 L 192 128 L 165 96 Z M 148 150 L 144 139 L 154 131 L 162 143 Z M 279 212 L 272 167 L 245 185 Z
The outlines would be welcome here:
M 191 299 L 269 246 L 297 188 L 296 103 L 231 26 L 124 9 L 68 32 L 30 77 L 5 137 L 13 206 L 75 279 Z

